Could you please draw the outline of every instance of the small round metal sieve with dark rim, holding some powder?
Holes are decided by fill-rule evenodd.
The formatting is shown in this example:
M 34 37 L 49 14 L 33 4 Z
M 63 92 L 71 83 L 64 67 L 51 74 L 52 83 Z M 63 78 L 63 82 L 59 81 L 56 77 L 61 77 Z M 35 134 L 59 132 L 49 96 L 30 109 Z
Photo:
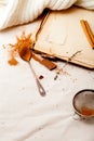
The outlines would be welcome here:
M 81 117 L 94 117 L 94 90 L 83 89 L 72 100 L 75 112 Z

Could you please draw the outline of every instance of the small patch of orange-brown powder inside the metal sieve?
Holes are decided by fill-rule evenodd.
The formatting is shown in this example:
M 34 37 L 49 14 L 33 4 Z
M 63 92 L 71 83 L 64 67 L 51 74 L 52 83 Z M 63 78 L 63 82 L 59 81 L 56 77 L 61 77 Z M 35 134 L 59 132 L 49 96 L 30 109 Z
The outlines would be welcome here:
M 94 115 L 94 110 L 86 107 L 86 106 L 82 106 L 81 114 L 85 115 L 85 116 L 92 116 L 92 115 Z

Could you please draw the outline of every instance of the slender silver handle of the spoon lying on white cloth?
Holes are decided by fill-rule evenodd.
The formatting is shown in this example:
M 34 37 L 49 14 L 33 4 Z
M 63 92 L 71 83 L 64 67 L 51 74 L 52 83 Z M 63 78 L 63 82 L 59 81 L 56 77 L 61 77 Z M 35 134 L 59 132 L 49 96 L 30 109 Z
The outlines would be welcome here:
M 32 72 L 35 78 L 36 78 L 36 82 L 37 82 L 37 86 L 38 86 L 38 90 L 39 90 L 40 94 L 41 94 L 42 97 L 44 97 L 44 95 L 45 95 L 45 90 L 44 90 L 44 88 L 42 87 L 42 85 L 40 84 L 40 81 L 39 81 L 39 79 L 38 79 L 38 77 L 37 77 L 35 70 L 33 70 L 33 68 L 32 68 L 30 62 L 28 62 L 28 64 L 29 64 L 29 67 L 30 67 L 30 69 L 31 69 L 31 72 Z

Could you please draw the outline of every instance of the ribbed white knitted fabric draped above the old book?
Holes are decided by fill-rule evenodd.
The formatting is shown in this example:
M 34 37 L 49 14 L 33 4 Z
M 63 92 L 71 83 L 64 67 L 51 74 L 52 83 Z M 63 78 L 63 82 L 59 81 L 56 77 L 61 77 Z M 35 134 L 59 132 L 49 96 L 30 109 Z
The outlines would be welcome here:
M 0 29 L 31 22 L 45 8 L 65 10 L 72 4 L 94 10 L 94 0 L 0 0 Z

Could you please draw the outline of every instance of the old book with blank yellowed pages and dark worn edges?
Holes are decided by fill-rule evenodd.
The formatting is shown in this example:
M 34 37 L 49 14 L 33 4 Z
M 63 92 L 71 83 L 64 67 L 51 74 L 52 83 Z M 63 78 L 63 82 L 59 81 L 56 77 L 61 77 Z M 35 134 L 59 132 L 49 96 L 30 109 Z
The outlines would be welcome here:
M 94 33 L 94 11 L 78 7 L 51 11 L 38 34 L 35 50 L 94 68 L 94 49 L 82 29 L 81 20 L 88 21 Z

